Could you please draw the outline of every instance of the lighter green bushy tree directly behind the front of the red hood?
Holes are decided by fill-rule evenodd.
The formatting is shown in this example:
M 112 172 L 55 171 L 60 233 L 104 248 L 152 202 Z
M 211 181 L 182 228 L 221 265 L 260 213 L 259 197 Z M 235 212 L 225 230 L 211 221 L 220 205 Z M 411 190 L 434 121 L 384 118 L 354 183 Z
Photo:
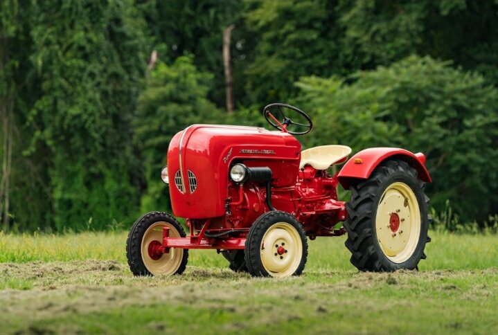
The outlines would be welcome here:
M 188 56 L 178 57 L 171 66 L 159 63 L 148 78 L 134 123 L 148 186 L 142 197 L 143 212 L 167 206 L 168 189 L 158 183 L 158 172 L 166 165 L 172 136 L 188 125 L 220 119 L 220 111 L 206 99 L 211 82 L 212 76 L 197 71 Z

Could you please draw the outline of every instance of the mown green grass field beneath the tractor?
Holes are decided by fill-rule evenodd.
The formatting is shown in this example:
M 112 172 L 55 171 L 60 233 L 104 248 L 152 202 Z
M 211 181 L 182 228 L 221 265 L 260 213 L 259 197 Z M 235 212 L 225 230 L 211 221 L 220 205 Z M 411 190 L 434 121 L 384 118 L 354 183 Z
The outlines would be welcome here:
M 420 272 L 358 273 L 344 238 L 319 238 L 284 280 L 215 251 L 134 278 L 126 233 L 0 235 L 0 333 L 498 333 L 498 236 L 431 235 Z

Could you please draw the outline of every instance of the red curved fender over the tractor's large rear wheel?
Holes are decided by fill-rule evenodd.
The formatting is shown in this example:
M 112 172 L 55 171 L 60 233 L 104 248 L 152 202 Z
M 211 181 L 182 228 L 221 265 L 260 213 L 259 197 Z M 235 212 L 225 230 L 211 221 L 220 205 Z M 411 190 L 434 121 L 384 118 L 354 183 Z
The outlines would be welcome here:
M 337 174 L 337 179 L 346 190 L 356 179 L 368 179 L 377 165 L 386 159 L 400 159 L 407 162 L 418 172 L 418 178 L 430 183 L 432 181 L 427 168 L 425 168 L 425 155 L 413 154 L 408 150 L 395 147 L 372 147 L 362 150 L 351 157 Z

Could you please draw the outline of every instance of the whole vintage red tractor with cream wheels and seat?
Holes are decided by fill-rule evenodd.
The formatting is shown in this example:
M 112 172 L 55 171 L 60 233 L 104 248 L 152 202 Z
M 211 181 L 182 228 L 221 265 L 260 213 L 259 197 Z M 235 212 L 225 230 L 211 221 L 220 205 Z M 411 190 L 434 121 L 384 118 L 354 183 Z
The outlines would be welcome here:
M 301 152 L 294 135 L 311 131 L 308 115 L 285 104 L 268 105 L 263 115 L 278 132 L 191 125 L 172 138 L 161 177 L 190 232 L 164 212 L 140 217 L 127 238 L 134 275 L 182 273 L 188 249 L 216 249 L 230 269 L 254 276 L 300 275 L 307 236 L 345 233 L 357 269 L 417 269 L 429 242 L 424 154 L 376 147 L 348 160 L 344 145 Z M 339 183 L 351 192 L 347 203 L 337 199 Z

